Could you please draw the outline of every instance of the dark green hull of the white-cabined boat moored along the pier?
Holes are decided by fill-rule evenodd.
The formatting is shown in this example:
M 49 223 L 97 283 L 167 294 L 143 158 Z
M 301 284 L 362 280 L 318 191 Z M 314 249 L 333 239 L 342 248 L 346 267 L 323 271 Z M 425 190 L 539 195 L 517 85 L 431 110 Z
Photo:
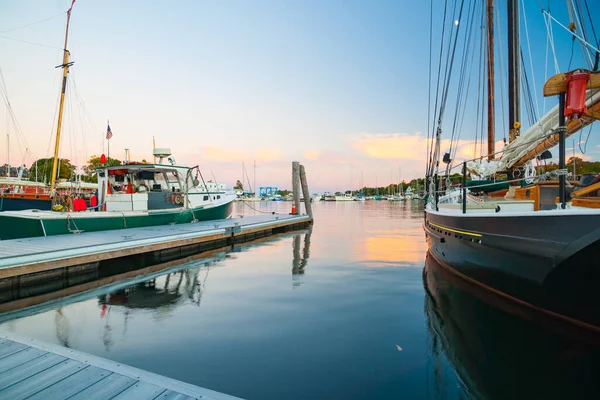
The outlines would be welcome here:
M 110 217 L 86 213 L 85 218 L 26 218 L 0 213 L 0 240 L 37 236 L 65 235 L 74 232 L 98 232 L 115 229 L 187 224 L 194 220 L 225 219 L 231 215 L 233 203 L 211 208 L 154 211 L 141 215 L 114 213 Z M 112 214 L 112 213 L 111 213 Z

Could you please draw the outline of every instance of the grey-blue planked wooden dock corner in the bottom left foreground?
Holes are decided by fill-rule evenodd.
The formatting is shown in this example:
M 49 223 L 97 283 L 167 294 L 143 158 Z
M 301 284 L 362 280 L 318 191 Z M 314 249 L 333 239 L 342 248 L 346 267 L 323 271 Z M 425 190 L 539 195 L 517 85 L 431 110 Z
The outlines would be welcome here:
M 237 397 L 66 347 L 0 333 L 2 399 L 202 399 Z

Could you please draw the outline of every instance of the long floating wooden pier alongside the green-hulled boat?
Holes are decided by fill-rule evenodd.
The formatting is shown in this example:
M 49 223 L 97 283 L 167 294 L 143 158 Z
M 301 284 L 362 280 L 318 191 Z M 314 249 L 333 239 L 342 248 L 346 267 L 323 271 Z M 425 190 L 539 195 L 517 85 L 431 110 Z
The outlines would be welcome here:
M 210 250 L 307 227 L 307 215 L 268 214 L 0 241 L 0 280 L 178 248 Z M 68 271 L 67 271 L 68 272 Z

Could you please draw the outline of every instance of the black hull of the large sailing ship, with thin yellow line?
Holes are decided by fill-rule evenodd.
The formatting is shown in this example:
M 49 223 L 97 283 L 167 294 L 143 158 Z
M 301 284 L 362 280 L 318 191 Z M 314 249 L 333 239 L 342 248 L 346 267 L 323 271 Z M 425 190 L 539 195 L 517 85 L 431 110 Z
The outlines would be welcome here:
M 600 216 L 465 217 L 426 212 L 431 254 L 518 300 L 600 326 Z

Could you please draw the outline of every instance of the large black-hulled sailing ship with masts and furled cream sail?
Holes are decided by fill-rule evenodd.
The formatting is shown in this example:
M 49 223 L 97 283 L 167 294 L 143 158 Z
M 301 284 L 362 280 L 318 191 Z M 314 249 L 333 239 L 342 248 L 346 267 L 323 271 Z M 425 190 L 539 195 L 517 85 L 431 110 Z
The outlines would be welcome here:
M 557 96 L 558 105 L 521 132 L 520 90 L 526 86 L 526 75 L 521 70 L 520 1 L 507 0 L 509 144 L 497 153 L 494 2 L 486 1 L 482 18 L 487 20 L 487 39 L 483 43 L 488 44 L 487 90 L 492 94 L 487 96 L 488 154 L 458 165 L 462 183 L 453 185 L 449 177 L 456 172 L 452 169 L 452 151 L 441 157 L 443 112 L 436 110 L 434 126 L 430 127 L 423 221 L 429 252 L 464 280 L 515 301 L 558 313 L 564 311 L 561 304 L 579 301 L 580 307 L 586 307 L 582 296 L 590 289 L 596 290 L 600 282 L 600 197 L 595 195 L 600 189 L 600 177 L 583 187 L 567 181 L 565 139 L 600 117 L 598 49 L 585 40 L 581 22 L 571 21 L 569 31 L 574 40 L 586 51 L 590 46 L 594 49 L 591 53 L 595 70 L 571 69 L 548 79 L 543 94 Z M 555 23 L 554 17 L 543 11 L 547 26 Z M 576 15 L 579 14 L 570 13 L 573 18 Z M 589 21 L 593 23 L 591 18 Z M 460 25 L 455 20 L 446 22 L 456 26 L 450 40 L 455 43 Z M 448 42 L 442 44 L 445 45 Z M 445 90 L 447 86 L 443 84 L 441 91 Z M 539 173 L 531 167 L 532 160 L 547 156 L 546 151 L 554 146 L 558 146 L 557 171 Z M 440 168 L 444 163 L 445 171 Z M 483 191 L 467 188 L 469 174 L 472 178 L 492 180 L 507 176 L 509 188 L 496 197 L 478 194 Z M 523 178 L 527 178 L 525 182 Z

